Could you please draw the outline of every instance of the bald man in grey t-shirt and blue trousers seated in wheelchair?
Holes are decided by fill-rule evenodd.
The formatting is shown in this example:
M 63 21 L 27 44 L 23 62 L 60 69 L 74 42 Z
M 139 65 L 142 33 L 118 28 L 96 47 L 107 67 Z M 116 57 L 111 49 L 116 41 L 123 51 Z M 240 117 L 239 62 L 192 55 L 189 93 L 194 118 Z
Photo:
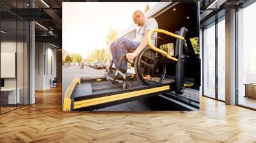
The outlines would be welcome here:
M 134 21 L 134 24 L 137 24 L 140 26 L 140 29 L 138 31 L 138 36 L 134 40 L 128 40 L 126 38 L 118 38 L 116 41 L 114 41 L 111 45 L 111 54 L 113 57 L 113 61 L 115 64 L 115 67 L 117 67 L 118 61 L 120 61 L 120 58 L 126 54 L 126 58 L 133 60 L 140 52 L 145 49 L 148 45 L 147 40 L 147 34 L 151 29 L 158 28 L 158 24 L 156 19 L 149 18 L 147 19 L 145 15 L 140 10 L 134 11 L 132 15 L 132 19 Z M 157 33 L 154 33 L 152 36 L 152 43 L 155 44 L 155 40 L 157 37 Z M 134 50 L 132 53 L 127 53 L 129 50 Z M 127 70 L 127 61 L 125 60 L 121 68 L 124 70 Z M 116 69 L 117 70 L 117 69 Z

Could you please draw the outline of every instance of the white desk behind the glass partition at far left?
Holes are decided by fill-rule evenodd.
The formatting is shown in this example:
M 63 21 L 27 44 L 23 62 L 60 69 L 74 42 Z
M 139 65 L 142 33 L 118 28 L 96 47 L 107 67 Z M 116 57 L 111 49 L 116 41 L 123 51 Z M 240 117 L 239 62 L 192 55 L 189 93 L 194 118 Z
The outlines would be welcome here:
M 3 88 L 1 89 L 1 100 L 4 104 L 16 104 L 20 103 L 20 89 L 17 88 L 17 98 L 16 98 L 16 88 Z M 6 94 L 8 93 L 8 94 Z M 4 100 L 5 98 L 5 100 Z M 7 100 L 8 98 L 8 100 Z M 8 102 L 7 102 L 8 101 Z

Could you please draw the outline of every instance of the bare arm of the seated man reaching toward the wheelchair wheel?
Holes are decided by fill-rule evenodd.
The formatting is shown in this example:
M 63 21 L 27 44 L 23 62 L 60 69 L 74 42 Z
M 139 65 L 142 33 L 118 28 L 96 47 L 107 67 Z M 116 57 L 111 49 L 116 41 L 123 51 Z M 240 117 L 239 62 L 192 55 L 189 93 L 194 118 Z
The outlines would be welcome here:
M 138 48 L 136 50 L 134 50 L 134 52 L 126 54 L 127 59 L 133 60 L 136 56 L 138 56 L 138 54 L 140 54 L 140 52 L 143 49 L 145 49 L 145 47 L 147 47 L 147 45 L 148 45 L 148 40 L 147 40 L 148 32 L 149 31 L 145 31 L 144 37 L 140 41 L 140 45 L 138 46 Z

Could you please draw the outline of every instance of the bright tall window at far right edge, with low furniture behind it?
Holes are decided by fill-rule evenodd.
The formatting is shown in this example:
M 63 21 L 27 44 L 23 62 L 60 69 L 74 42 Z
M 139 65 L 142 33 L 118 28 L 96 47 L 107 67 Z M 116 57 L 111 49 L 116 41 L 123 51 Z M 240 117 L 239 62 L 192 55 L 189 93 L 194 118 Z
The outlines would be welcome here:
M 237 101 L 253 109 L 256 109 L 255 13 L 256 3 L 237 11 Z

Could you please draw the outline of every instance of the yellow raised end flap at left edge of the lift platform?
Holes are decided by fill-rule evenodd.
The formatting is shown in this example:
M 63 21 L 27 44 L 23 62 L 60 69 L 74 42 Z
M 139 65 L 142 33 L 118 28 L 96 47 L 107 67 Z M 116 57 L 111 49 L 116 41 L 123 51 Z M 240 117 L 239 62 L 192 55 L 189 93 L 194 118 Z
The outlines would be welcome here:
M 76 84 L 80 84 L 80 78 L 76 77 L 72 83 L 68 86 L 67 91 L 65 92 L 65 98 L 63 103 L 63 111 L 70 111 L 71 109 L 71 94 L 74 91 L 74 88 L 76 87 Z

